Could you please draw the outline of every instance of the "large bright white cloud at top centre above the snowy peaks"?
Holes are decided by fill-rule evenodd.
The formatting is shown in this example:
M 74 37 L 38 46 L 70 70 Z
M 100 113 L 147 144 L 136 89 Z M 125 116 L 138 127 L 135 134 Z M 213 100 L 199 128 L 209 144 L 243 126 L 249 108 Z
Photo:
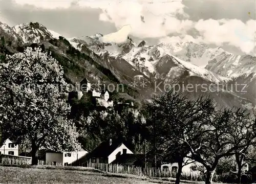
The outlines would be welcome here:
M 89 4 L 88 6 L 97 7 L 96 4 Z M 100 20 L 115 24 L 117 29 L 123 25 L 130 25 L 131 34 L 142 39 L 162 37 L 177 32 L 186 33 L 186 29 L 193 24 L 190 20 L 176 18 L 176 14 L 186 16 L 181 1 L 167 3 L 124 1 L 100 5 L 98 8 L 102 9 Z M 143 17 L 143 21 L 141 17 Z

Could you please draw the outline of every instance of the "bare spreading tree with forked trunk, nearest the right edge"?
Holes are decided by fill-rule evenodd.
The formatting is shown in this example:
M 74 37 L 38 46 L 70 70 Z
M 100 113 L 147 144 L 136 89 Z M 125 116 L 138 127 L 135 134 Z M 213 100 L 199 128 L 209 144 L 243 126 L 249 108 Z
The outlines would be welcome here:
M 185 134 L 183 140 L 190 148 L 191 158 L 206 168 L 205 183 L 211 183 L 220 158 L 241 152 L 251 144 L 253 122 L 244 110 L 223 108 L 208 114 L 199 124 L 204 127 L 198 131 L 200 141 L 195 144 Z

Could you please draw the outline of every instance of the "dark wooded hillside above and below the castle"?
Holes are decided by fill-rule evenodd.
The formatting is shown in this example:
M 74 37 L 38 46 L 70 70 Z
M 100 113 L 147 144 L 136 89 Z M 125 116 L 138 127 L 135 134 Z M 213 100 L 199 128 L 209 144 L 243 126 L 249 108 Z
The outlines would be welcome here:
M 1 29 L 1 28 L 0 28 Z M 94 61 L 87 54 L 76 50 L 70 42 L 63 38 L 52 38 L 40 43 L 24 43 L 21 39 L 1 31 L 1 62 L 5 62 L 6 55 L 24 52 L 27 47 L 41 48 L 53 56 L 63 67 L 66 82 L 74 84 L 85 77 L 94 84 L 104 82 L 106 85 L 120 84 L 120 80 L 100 63 Z M 14 35 L 15 36 L 15 35 Z M 136 152 L 142 151 L 145 125 L 140 113 L 141 103 L 138 98 L 142 95 L 127 84 L 122 84 L 123 91 L 113 91 L 113 108 L 97 107 L 91 99 L 83 97 L 81 100 L 72 99 L 68 103 L 72 106 L 70 118 L 77 120 L 79 141 L 89 150 L 94 149 L 101 141 L 118 139 L 125 141 Z M 137 99 L 137 100 L 135 100 Z M 123 104 L 117 104 L 123 103 Z M 125 103 L 135 102 L 134 106 Z M 80 122 L 80 123 L 79 123 Z M 4 134 L 4 137 L 8 136 Z

